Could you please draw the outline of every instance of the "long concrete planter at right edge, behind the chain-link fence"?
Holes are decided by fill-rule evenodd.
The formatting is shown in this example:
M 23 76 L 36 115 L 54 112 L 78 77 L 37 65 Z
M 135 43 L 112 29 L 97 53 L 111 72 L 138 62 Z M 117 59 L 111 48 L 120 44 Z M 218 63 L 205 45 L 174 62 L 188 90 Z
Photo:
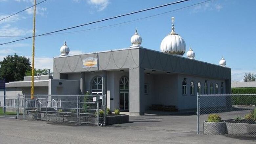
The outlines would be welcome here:
M 232 135 L 255 135 L 256 124 L 226 122 L 227 133 Z

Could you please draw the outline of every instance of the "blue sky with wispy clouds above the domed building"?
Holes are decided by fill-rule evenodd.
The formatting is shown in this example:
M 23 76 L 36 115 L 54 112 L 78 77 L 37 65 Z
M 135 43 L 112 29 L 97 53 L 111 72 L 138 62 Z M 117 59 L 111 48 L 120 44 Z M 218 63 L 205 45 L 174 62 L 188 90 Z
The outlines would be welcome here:
M 0 0 L 0 19 L 33 5 L 33 0 Z M 37 0 L 37 3 L 42 0 Z M 36 34 L 55 31 L 132 11 L 175 2 L 178 0 L 47 0 L 37 6 Z M 110 21 L 100 22 L 69 31 L 82 32 L 36 37 L 35 68 L 51 68 L 53 57 L 60 54 L 64 41 L 71 54 L 128 48 L 136 28 L 144 48 L 160 51 L 162 39 L 171 31 L 171 17 L 175 17 L 175 31 L 195 51 L 195 58 L 219 64 L 222 56 L 231 68 L 232 80 L 242 80 L 245 72 L 256 73 L 256 1 L 212 0 L 202 5 L 162 14 L 139 21 L 113 25 L 142 17 L 179 9 L 204 0 L 150 10 Z M 0 36 L 31 36 L 33 9 L 0 21 Z M 94 29 L 99 28 L 99 29 Z M 68 31 L 63 31 L 68 32 Z M 0 43 L 19 38 L 0 38 Z M 0 46 L 0 60 L 17 53 L 31 57 L 32 39 Z M 185 56 L 185 54 L 184 54 Z

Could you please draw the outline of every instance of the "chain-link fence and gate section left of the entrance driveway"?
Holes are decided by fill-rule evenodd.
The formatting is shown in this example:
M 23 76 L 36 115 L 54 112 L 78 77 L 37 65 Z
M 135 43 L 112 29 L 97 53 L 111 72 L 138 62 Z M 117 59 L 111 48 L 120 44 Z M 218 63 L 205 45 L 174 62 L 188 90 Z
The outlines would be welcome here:
M 2 100 L 1 100 L 2 99 Z M 24 120 L 106 125 L 106 95 L 2 96 L 0 116 Z

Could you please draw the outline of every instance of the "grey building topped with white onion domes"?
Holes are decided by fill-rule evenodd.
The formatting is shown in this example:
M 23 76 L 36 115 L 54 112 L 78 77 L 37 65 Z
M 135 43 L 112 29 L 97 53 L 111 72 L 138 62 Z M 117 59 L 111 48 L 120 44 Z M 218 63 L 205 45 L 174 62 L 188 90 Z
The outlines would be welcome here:
M 161 51 L 143 48 L 137 30 L 126 49 L 68 55 L 53 58 L 53 79 L 48 79 L 49 94 L 106 94 L 114 111 L 143 115 L 152 104 L 172 105 L 179 110 L 197 107 L 201 94 L 231 93 L 231 72 L 224 58 L 219 65 L 195 60 L 190 47 L 187 57 L 183 38 L 174 25 L 161 45 Z

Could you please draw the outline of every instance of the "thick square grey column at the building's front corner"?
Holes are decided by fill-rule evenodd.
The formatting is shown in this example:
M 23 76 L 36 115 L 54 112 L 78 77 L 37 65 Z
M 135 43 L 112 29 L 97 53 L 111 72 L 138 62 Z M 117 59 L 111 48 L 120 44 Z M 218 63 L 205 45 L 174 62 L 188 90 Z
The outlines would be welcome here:
M 129 112 L 131 115 L 144 115 L 144 69 L 129 69 Z

